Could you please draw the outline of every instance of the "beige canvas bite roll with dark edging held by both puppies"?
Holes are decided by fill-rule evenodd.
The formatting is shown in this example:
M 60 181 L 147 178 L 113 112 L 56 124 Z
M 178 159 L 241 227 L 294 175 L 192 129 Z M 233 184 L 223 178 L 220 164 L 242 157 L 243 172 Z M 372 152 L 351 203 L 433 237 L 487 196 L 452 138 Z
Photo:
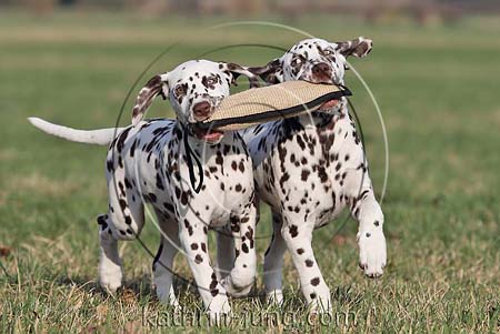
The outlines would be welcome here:
M 222 100 L 212 117 L 198 126 L 222 131 L 292 118 L 318 110 L 324 102 L 352 93 L 343 85 L 287 81 L 254 88 Z

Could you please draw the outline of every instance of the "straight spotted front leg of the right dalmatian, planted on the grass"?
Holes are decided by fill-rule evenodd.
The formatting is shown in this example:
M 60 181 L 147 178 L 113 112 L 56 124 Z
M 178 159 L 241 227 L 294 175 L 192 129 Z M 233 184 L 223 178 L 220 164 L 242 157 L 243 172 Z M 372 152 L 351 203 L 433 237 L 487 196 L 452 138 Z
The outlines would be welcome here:
M 302 220 L 302 221 L 301 221 Z M 300 223 L 299 223 L 300 222 Z M 300 285 L 306 301 L 313 312 L 330 312 L 330 289 L 321 275 L 312 250 L 312 231 L 314 224 L 304 222 L 303 215 L 294 212 L 283 213 L 281 235 L 287 243 L 300 277 Z

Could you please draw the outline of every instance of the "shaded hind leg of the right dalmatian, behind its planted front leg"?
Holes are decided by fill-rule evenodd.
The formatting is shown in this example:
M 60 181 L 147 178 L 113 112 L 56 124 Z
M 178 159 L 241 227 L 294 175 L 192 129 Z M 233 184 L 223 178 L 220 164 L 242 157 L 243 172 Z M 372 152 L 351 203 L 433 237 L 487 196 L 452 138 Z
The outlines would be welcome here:
M 268 302 L 280 305 L 283 302 L 282 270 L 287 243 L 281 236 L 281 214 L 272 212 L 272 240 L 264 255 L 263 281 Z

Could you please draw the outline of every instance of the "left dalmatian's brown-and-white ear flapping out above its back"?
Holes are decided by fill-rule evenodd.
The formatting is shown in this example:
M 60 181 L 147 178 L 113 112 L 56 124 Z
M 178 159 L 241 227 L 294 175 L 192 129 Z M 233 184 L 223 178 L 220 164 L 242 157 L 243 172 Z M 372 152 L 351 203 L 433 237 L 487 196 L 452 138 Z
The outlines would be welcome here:
M 142 120 L 156 97 L 162 95 L 163 100 L 167 99 L 169 95 L 167 75 L 168 73 L 154 75 L 141 89 L 132 109 L 132 125 L 136 125 Z

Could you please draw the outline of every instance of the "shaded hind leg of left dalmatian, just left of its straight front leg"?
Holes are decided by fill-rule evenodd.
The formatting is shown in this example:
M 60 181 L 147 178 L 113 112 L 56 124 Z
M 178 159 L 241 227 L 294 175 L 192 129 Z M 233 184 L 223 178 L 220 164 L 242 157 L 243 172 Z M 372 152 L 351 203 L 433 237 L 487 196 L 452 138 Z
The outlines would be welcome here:
M 160 302 L 178 307 L 179 301 L 173 290 L 172 273 L 173 259 L 180 247 L 179 225 L 174 220 L 162 216 L 161 213 L 157 212 L 157 216 L 162 231 L 161 243 L 152 264 L 157 296 Z

